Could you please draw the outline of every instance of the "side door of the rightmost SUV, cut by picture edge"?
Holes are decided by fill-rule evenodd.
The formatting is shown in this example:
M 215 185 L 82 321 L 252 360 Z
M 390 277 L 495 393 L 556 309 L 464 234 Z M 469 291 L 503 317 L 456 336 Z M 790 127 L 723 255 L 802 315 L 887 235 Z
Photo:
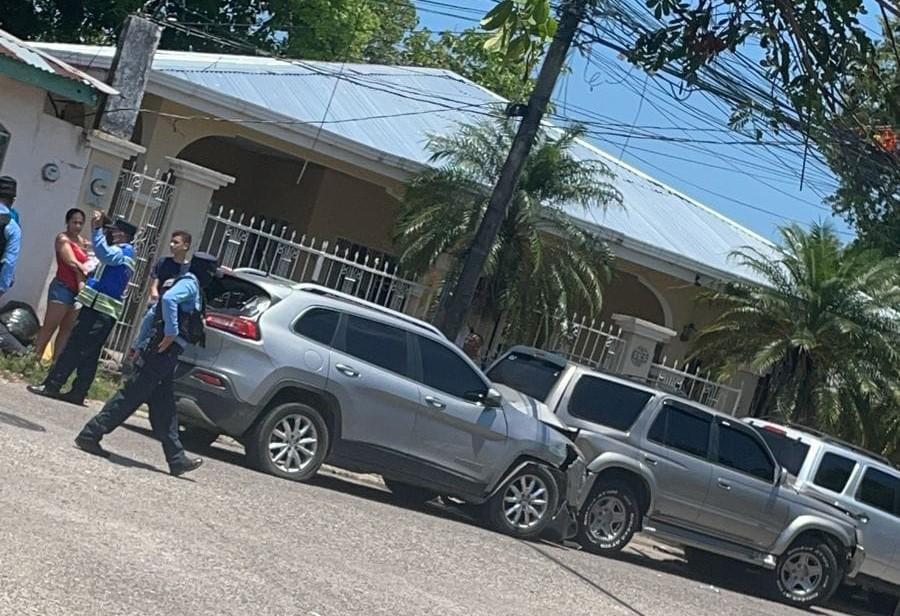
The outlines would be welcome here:
M 871 562 L 864 572 L 900 584 L 900 476 L 868 466 L 855 500 L 855 509 L 868 518 L 862 532 L 866 561 Z

